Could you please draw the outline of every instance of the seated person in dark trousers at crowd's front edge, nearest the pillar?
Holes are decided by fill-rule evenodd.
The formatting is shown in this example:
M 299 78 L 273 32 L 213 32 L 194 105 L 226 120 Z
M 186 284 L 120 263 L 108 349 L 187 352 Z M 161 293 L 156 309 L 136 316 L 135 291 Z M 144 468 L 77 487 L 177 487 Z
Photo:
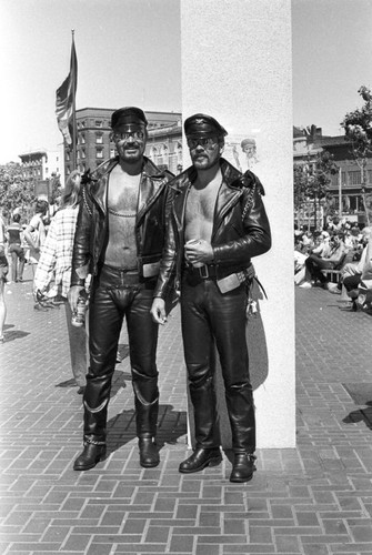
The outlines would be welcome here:
M 312 287 L 312 282 L 319 281 L 323 286 L 326 286 L 328 279 L 322 273 L 322 270 L 335 270 L 340 264 L 342 264 L 348 249 L 343 242 L 343 233 L 338 232 L 333 235 L 332 242 L 330 242 L 330 249 L 323 249 L 315 253 L 315 249 L 312 254 L 308 256 L 305 261 L 305 281 L 300 285 L 300 287 Z

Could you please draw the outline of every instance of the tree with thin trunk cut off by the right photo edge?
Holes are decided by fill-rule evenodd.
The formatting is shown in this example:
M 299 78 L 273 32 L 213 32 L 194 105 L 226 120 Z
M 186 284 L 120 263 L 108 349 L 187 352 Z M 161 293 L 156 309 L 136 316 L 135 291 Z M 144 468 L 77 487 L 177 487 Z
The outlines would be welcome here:
M 351 142 L 353 157 L 361 170 L 362 199 L 366 223 L 370 225 L 372 195 L 366 192 L 366 162 L 372 155 L 372 93 L 365 85 L 362 85 L 358 93 L 364 100 L 364 105 L 346 113 L 341 125 L 345 131 L 345 137 Z

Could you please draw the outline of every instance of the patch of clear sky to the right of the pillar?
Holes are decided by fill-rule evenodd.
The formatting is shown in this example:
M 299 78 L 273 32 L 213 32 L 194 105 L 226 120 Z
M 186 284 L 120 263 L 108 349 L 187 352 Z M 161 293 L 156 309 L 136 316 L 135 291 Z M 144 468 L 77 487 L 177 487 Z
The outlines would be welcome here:
M 292 75 L 293 124 L 344 134 L 372 88 L 372 0 L 292 0 Z

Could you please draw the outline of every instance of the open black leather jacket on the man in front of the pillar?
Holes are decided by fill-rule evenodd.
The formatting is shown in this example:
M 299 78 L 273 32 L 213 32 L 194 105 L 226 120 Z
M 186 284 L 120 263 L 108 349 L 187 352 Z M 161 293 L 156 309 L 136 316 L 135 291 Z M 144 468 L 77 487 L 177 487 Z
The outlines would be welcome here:
M 247 270 L 251 259 L 271 248 L 269 220 L 262 202 L 263 186 L 252 172 L 244 175 L 220 160 L 223 182 L 219 190 L 211 244 L 217 279 Z M 167 204 L 167 239 L 154 296 L 168 299 L 180 290 L 184 261 L 184 214 L 188 193 L 197 172 L 191 167 L 170 183 Z

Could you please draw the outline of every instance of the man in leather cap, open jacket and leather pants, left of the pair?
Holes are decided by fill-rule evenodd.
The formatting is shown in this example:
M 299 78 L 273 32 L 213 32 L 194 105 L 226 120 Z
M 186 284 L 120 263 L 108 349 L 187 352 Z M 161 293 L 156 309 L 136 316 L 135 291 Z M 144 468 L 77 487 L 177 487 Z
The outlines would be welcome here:
M 154 442 L 159 408 L 158 325 L 150 307 L 163 248 L 168 182 L 143 155 L 148 139 L 142 110 L 111 117 L 118 157 L 103 163 L 86 188 L 74 238 L 69 301 L 74 311 L 88 273 L 90 367 L 84 405 L 84 447 L 73 468 L 92 468 L 104 456 L 107 414 L 118 341 L 127 320 L 140 464 L 159 464 Z

